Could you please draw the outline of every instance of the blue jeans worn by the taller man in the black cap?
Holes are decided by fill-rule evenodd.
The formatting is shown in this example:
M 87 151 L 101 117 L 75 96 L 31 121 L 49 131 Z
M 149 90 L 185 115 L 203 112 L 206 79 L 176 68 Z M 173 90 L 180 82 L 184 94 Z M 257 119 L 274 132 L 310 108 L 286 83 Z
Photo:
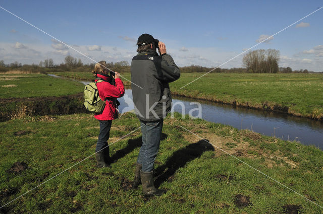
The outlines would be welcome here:
M 139 151 L 137 163 L 142 165 L 141 171 L 153 171 L 153 164 L 155 162 L 163 129 L 164 119 L 155 122 L 141 122 L 142 145 Z

